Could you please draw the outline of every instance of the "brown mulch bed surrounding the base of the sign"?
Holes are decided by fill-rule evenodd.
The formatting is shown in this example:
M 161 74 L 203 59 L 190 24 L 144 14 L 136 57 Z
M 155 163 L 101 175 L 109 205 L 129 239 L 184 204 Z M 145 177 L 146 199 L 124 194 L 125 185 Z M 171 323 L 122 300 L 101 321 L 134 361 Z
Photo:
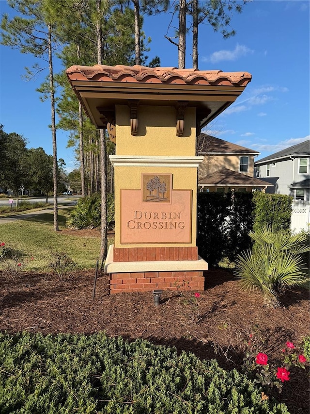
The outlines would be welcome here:
M 274 361 L 287 340 L 300 343 L 309 335 L 309 291 L 290 290 L 281 306 L 271 308 L 259 295 L 241 290 L 230 271 L 212 269 L 205 276 L 198 306 L 193 292 L 165 291 L 155 307 L 151 292 L 109 295 L 105 273 L 98 274 L 94 300 L 94 271 L 77 272 L 62 282 L 45 273 L 22 274 L 16 280 L 0 273 L 0 330 L 106 331 L 216 358 L 227 369 L 240 366 L 250 333 L 264 339 L 260 350 Z M 282 394 L 275 394 L 292 414 L 309 413 L 308 368 L 292 368 Z

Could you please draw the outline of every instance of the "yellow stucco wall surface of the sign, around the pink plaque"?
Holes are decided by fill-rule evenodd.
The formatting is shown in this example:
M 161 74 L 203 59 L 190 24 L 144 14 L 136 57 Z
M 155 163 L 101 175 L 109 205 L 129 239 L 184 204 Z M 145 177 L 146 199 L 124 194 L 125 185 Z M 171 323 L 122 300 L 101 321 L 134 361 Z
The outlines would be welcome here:
M 138 134 L 130 131 L 130 110 L 126 105 L 116 105 L 116 155 L 132 156 L 191 156 L 196 151 L 196 108 L 186 108 L 185 130 L 176 135 L 177 112 L 166 106 L 138 107 Z M 153 166 L 115 166 L 115 244 L 116 248 L 132 247 L 121 244 L 121 189 L 140 189 L 141 174 L 172 174 L 172 190 L 192 191 L 191 242 L 178 246 L 196 246 L 197 168 Z M 136 244 L 143 247 L 145 244 Z M 150 247 L 158 244 L 148 244 Z M 174 244 L 166 243 L 172 247 Z

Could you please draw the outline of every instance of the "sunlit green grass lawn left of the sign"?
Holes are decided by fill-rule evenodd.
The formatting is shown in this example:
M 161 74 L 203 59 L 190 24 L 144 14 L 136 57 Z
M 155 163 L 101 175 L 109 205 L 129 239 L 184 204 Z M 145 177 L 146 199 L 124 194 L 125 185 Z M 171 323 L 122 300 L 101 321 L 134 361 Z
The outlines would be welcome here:
M 18 250 L 23 270 L 50 270 L 48 263 L 55 252 L 65 252 L 78 268 L 95 267 L 100 252 L 100 238 L 80 237 L 62 232 L 66 229 L 66 211 L 59 210 L 59 232 L 53 231 L 53 212 L 0 224 L 0 242 Z M 33 260 L 31 259 L 33 257 Z

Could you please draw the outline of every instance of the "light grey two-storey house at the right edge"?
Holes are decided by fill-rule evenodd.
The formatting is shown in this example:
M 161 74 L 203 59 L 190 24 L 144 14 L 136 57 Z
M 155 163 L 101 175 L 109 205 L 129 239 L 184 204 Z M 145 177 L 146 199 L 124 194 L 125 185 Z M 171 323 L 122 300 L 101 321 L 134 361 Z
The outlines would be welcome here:
M 255 177 L 272 182 L 266 193 L 310 201 L 310 140 L 282 149 L 255 162 Z

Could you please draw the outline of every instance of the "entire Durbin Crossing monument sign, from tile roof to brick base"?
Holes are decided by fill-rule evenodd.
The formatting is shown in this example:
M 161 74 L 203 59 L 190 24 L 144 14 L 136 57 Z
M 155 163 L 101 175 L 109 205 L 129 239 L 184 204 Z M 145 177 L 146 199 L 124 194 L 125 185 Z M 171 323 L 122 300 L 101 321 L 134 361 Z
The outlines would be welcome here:
M 116 145 L 115 243 L 110 293 L 203 290 L 196 247 L 196 156 L 201 128 L 242 93 L 247 72 L 174 67 L 71 66 L 68 79 L 97 128 Z

